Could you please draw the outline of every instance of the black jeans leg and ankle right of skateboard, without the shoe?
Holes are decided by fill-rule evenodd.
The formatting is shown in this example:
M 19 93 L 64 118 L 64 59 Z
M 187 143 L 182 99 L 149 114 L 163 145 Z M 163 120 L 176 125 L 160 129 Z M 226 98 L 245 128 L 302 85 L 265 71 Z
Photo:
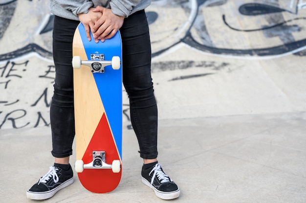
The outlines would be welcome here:
M 151 78 L 151 43 L 144 11 L 126 18 L 123 43 L 123 83 L 130 98 L 131 123 L 145 162 L 157 158 L 157 106 Z M 150 161 L 149 161 L 150 162 Z

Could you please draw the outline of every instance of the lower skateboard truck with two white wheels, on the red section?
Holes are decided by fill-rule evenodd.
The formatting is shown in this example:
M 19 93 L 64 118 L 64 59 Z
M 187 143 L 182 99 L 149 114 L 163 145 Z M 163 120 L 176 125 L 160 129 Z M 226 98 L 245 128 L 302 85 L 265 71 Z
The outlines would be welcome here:
M 75 170 L 82 173 L 84 169 L 111 169 L 114 173 L 119 173 L 121 169 L 121 162 L 114 160 L 112 164 L 105 162 L 105 151 L 93 151 L 92 162 L 84 164 L 83 160 L 75 162 Z

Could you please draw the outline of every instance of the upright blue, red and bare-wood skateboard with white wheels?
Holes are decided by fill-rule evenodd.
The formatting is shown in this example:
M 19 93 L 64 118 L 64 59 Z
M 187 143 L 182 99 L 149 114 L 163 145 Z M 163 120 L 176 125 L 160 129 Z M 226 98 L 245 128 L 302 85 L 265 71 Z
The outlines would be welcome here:
M 87 190 L 107 193 L 118 186 L 122 171 L 120 33 L 96 43 L 87 40 L 80 23 L 74 33 L 72 55 L 75 170 Z

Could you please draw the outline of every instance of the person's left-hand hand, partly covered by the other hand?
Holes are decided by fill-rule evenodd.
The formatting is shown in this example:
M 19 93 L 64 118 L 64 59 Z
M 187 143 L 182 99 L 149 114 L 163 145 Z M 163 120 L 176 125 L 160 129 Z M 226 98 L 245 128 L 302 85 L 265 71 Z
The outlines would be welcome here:
M 94 26 L 95 22 L 102 17 L 102 14 L 99 12 L 93 12 L 94 8 L 89 8 L 88 13 L 79 14 L 79 20 L 83 23 L 86 31 L 86 36 L 89 41 L 91 41 L 90 37 L 90 29 Z M 92 32 L 93 33 L 93 32 Z M 98 39 L 94 39 L 95 42 L 99 42 Z

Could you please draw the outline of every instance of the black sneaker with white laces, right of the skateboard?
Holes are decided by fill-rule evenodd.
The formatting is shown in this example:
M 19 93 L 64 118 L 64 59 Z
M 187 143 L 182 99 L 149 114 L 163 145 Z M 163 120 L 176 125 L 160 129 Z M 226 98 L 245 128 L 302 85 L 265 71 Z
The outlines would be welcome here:
M 156 163 L 149 169 L 142 168 L 142 183 L 151 187 L 155 195 L 163 200 L 172 200 L 179 197 L 180 191 L 177 185 L 167 176 L 161 165 Z

